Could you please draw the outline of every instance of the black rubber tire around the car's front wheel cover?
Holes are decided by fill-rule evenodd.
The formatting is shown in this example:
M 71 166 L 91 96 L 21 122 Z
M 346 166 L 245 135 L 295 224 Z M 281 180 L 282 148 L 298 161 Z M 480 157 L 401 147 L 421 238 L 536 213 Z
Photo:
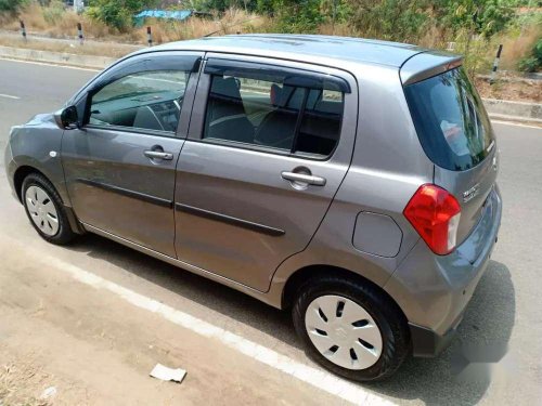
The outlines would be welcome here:
M 39 230 L 39 227 L 34 223 L 30 217 L 30 212 L 28 211 L 27 201 L 25 197 L 26 191 L 30 186 L 38 186 L 41 189 L 43 189 L 50 197 L 51 201 L 53 202 L 54 208 L 56 209 L 57 220 L 59 220 L 59 231 L 56 232 L 56 234 L 47 235 L 41 230 Z M 76 234 L 72 231 L 72 227 L 69 226 L 69 221 L 66 214 L 66 210 L 64 209 L 64 204 L 62 202 L 62 199 L 56 189 L 54 188 L 54 186 L 51 184 L 51 182 L 49 182 L 49 180 L 46 176 L 43 176 L 40 173 L 30 173 L 29 175 L 27 175 L 23 181 L 21 196 L 23 200 L 23 206 L 25 207 L 26 215 L 28 217 L 30 224 L 38 232 L 41 238 L 43 238 L 46 241 L 60 246 L 67 245 L 75 238 Z

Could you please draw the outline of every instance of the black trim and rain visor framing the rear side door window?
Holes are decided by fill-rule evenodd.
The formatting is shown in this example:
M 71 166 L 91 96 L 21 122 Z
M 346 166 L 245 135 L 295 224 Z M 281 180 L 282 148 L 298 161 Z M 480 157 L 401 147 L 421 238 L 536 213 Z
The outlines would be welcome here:
M 216 70 L 215 69 L 215 66 L 211 67 L 211 69 L 207 69 L 208 67 L 208 64 L 209 62 L 215 62 L 215 61 L 219 61 L 220 63 L 216 64 L 215 66 L 217 67 Z M 211 88 L 212 88 L 212 77 L 214 76 L 234 76 L 234 68 L 237 67 L 237 66 L 243 66 L 243 70 L 245 71 L 251 71 L 254 73 L 255 70 L 263 70 L 266 71 L 268 75 L 275 75 L 275 76 L 280 76 L 281 74 L 284 74 L 286 71 L 288 73 L 292 73 L 292 74 L 301 74 L 301 75 L 308 75 L 308 76 L 313 76 L 313 77 L 319 77 L 319 78 L 334 78 L 335 80 L 338 80 L 339 82 L 344 83 L 346 86 L 345 89 L 347 89 L 348 91 L 341 91 L 343 95 L 343 114 L 341 114 L 341 118 L 340 118 L 340 126 L 339 126 L 339 130 L 338 130 L 338 139 L 337 139 L 337 142 L 335 143 L 335 146 L 333 147 L 333 149 L 330 152 L 328 155 L 326 156 L 317 156 L 317 154 L 314 154 L 314 156 L 309 156 L 310 154 L 309 153 L 304 153 L 304 152 L 297 152 L 297 148 L 296 148 L 296 142 L 297 142 L 297 137 L 298 137 L 298 132 L 299 132 L 299 128 L 298 128 L 298 125 L 300 127 L 301 125 L 301 121 L 302 121 L 302 114 L 305 113 L 305 109 L 306 109 L 306 105 L 307 105 L 307 102 L 308 102 L 308 95 L 309 95 L 309 91 L 306 91 L 305 95 L 304 95 L 304 103 L 302 103 L 302 106 L 301 108 L 299 109 L 298 112 L 298 123 L 296 123 L 296 132 L 294 133 L 294 142 L 292 144 L 292 148 L 289 150 L 287 149 L 280 149 L 280 148 L 273 148 L 273 147 L 270 147 L 270 146 L 264 146 L 264 145 L 258 145 L 258 144 L 247 144 L 247 143 L 242 143 L 242 142 L 237 142 L 237 141 L 232 141 L 232 140 L 223 140 L 223 139 L 215 139 L 215 137 L 204 137 L 204 132 L 205 132 L 205 126 L 206 126 L 206 122 L 207 122 L 207 108 L 209 107 L 209 96 L 210 96 L 210 91 L 211 91 Z M 272 67 L 272 71 L 271 70 L 264 70 L 264 69 L 258 69 L 258 67 Z M 223 69 L 222 69 L 223 68 Z M 216 71 L 216 73 L 215 73 Z M 236 62 L 236 61 L 230 61 L 230 60 L 222 60 L 222 58 L 219 58 L 219 57 L 211 57 L 211 58 L 208 58 L 205 61 L 205 65 L 204 65 L 204 68 L 203 68 L 203 71 L 202 74 L 205 74 L 207 75 L 208 77 L 208 89 L 207 89 L 207 94 L 205 96 L 205 113 L 203 114 L 203 126 L 202 126 L 202 133 L 199 134 L 199 137 L 198 139 L 191 139 L 190 135 L 189 137 L 186 139 L 186 141 L 191 141 L 191 142 L 197 142 L 197 143 L 205 143 L 205 144 L 211 144 L 211 145 L 217 145 L 217 146 L 224 146 L 224 147 L 232 147 L 232 148 L 235 148 L 235 149 L 247 149 L 247 150 L 253 150 L 253 152 L 257 152 L 257 153 L 264 153 L 264 154 L 270 154 L 270 155 L 278 155 L 278 156 L 283 156 L 283 157 L 289 157 L 289 158 L 297 158 L 297 159 L 302 159 L 302 160 L 311 160 L 311 161 L 321 161 L 321 162 L 325 162 L 325 161 L 328 161 L 333 158 L 333 155 L 335 154 L 335 152 L 337 150 L 338 148 L 338 145 L 340 143 L 340 139 L 341 139 L 341 133 L 343 133 L 343 123 L 344 123 L 344 120 L 345 120 L 345 104 L 346 104 L 346 97 L 345 97 L 345 94 L 346 93 L 351 93 L 351 89 L 350 89 L 350 84 L 343 78 L 340 77 L 337 77 L 337 76 L 334 76 L 334 75 L 327 75 L 327 74 L 323 74 L 323 73 L 318 73 L 318 71 L 313 71 L 313 70 L 308 70 L 308 69 L 302 69 L 302 68 L 291 68 L 291 67 L 286 67 L 286 66 L 273 66 L 273 65 L 268 65 L 268 64 L 263 64 L 263 63 L 260 63 L 260 62 Z M 242 76 L 243 74 L 241 71 L 237 73 L 237 75 Z M 201 86 L 201 82 L 199 84 Z M 309 87 L 306 87 L 305 88 L 306 90 L 309 90 L 309 89 L 315 89 L 315 90 L 333 90 L 333 91 L 337 91 L 336 89 L 325 89 L 324 87 L 322 88 L 309 88 Z M 197 97 L 197 95 L 196 95 Z M 306 154 L 306 155 L 302 155 L 302 154 Z

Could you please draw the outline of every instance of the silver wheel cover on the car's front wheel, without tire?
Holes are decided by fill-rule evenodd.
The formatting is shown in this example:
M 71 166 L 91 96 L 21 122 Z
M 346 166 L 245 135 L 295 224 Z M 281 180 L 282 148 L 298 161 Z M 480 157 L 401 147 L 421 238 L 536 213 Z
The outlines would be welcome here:
M 39 186 L 26 189 L 25 205 L 34 224 L 47 236 L 54 236 L 59 232 L 59 214 L 49 195 Z

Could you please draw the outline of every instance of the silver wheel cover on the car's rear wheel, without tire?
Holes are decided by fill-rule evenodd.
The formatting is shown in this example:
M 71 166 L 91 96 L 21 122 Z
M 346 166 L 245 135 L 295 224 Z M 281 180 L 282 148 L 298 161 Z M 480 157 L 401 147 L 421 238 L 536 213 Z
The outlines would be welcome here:
M 366 369 L 379 359 L 382 333 L 371 315 L 358 303 L 340 296 L 314 299 L 305 314 L 312 344 L 333 364 Z

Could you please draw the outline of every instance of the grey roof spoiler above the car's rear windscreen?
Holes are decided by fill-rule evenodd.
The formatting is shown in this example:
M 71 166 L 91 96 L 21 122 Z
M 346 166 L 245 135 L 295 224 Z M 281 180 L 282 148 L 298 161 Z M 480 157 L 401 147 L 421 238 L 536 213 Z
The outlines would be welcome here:
M 406 60 L 399 71 L 403 86 L 443 74 L 463 65 L 463 57 L 437 51 L 421 52 Z

